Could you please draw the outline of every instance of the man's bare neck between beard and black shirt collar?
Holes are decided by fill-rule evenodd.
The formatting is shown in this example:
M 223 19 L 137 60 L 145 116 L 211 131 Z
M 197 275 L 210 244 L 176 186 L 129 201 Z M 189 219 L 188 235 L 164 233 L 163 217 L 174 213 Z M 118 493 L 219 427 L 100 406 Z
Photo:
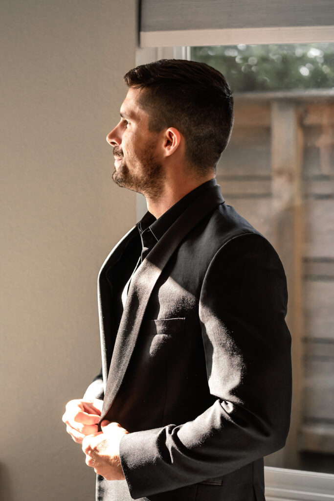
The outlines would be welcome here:
M 147 210 L 158 219 L 164 214 L 174 203 L 178 202 L 185 195 L 190 193 L 193 189 L 201 184 L 213 179 L 213 173 L 208 174 L 200 179 L 184 179 L 182 182 L 169 182 L 166 183 L 157 198 L 150 198 L 145 196 L 147 203 Z

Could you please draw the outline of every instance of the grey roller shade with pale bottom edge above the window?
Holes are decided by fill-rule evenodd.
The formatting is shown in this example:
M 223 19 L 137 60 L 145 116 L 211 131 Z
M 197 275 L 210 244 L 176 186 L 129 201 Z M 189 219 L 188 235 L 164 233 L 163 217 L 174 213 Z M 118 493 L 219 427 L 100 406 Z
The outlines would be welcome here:
M 334 0 L 141 0 L 141 47 L 334 41 Z M 285 38 L 284 38 L 285 37 Z M 215 43 L 216 42 L 216 43 Z

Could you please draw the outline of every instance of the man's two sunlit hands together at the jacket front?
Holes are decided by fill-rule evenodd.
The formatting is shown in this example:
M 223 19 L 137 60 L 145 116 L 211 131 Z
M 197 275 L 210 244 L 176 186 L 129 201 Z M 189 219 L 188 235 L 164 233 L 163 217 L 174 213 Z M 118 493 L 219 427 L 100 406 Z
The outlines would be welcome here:
M 128 433 L 119 423 L 106 419 L 98 431 L 103 401 L 70 400 L 63 421 L 73 440 L 82 444 L 86 464 L 107 480 L 124 480 L 120 460 L 120 441 Z

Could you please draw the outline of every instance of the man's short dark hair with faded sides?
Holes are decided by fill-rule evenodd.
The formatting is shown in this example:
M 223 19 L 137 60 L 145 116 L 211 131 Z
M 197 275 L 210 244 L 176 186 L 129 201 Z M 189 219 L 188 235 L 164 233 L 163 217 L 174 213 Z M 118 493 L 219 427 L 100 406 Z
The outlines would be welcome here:
M 124 81 L 145 89 L 139 106 L 149 130 L 175 127 L 185 138 L 188 163 L 199 174 L 215 169 L 233 126 L 233 96 L 224 76 L 205 63 L 161 59 L 130 70 Z

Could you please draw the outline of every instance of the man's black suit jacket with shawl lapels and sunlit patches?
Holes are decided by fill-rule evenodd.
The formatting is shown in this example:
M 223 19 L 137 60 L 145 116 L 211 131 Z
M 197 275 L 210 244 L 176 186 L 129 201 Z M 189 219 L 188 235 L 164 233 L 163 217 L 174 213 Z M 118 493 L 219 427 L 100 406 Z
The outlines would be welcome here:
M 262 458 L 284 445 L 290 416 L 281 262 L 218 186 L 156 243 L 122 312 L 140 248 L 135 227 L 99 275 L 102 419 L 130 433 L 126 482 L 100 477 L 98 498 L 262 501 Z

